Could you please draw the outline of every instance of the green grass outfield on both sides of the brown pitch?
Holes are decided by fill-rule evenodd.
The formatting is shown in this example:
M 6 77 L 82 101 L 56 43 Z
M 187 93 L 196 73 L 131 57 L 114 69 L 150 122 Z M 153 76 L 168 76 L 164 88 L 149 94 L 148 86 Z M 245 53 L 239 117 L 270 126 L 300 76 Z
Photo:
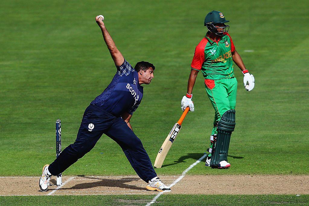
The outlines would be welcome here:
M 55 158 L 55 120 L 63 148 L 73 143 L 85 108 L 116 72 L 95 16 L 124 57 L 150 61 L 155 78 L 131 120 L 150 159 L 181 115 L 194 48 L 208 11 L 222 11 L 245 65 L 256 78 L 246 92 L 238 79 L 236 129 L 229 170 L 202 163 L 188 174 L 309 174 L 308 1 L 4 1 L 0 7 L 0 176 L 40 175 Z M 254 52 L 245 52 L 254 50 Z M 203 77 L 189 113 L 158 174 L 181 174 L 209 144 L 214 111 Z M 105 135 L 64 175 L 135 174 L 120 147 Z M 1 205 L 108 205 L 152 196 L 0 197 Z M 226 200 L 226 198 L 228 198 Z M 229 199 L 230 198 L 230 199 Z M 153 205 L 306 205 L 307 195 L 162 195 Z M 59 204 L 58 199 L 61 199 Z M 210 200 L 212 199 L 212 200 Z M 256 203 L 253 202 L 253 199 Z M 215 203 L 214 203 L 215 201 Z M 117 202 L 117 201 L 116 201 Z M 127 204 L 121 202 L 119 204 Z M 116 203 L 116 205 L 119 205 Z M 144 204 L 138 201 L 132 204 Z M 40 204 L 41 205 L 41 204 Z

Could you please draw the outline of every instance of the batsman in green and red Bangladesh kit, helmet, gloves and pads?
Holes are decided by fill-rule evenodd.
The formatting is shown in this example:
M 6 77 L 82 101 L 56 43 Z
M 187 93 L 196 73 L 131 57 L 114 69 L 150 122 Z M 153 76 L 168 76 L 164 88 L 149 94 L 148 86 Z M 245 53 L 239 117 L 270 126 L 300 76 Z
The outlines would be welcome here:
M 237 80 L 234 76 L 233 61 L 243 73 L 243 85 L 247 91 L 254 88 L 254 77 L 248 72 L 236 51 L 231 36 L 227 33 L 229 26 L 220 11 L 209 12 L 204 21 L 208 32 L 197 44 L 191 63 L 187 94 L 181 100 L 184 111 L 190 107 L 194 111 L 192 90 L 197 73 L 201 70 L 205 78 L 205 89 L 214 107 L 214 127 L 210 135 L 209 155 L 206 166 L 228 168 L 227 152 L 231 134 L 235 128 L 235 105 Z

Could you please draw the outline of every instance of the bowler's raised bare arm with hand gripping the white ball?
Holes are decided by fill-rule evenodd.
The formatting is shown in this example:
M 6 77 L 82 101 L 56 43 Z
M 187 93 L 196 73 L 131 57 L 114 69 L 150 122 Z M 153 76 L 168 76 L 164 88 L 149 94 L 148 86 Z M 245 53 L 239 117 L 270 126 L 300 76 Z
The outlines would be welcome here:
M 122 56 L 121 52 L 117 49 L 114 40 L 112 39 L 111 35 L 108 33 L 108 31 L 107 31 L 107 29 L 104 25 L 102 17 L 96 16 L 95 21 L 99 25 L 99 27 L 101 28 L 104 41 L 107 45 L 109 52 L 112 55 L 112 59 L 114 60 L 115 65 L 121 66 L 122 63 L 125 61 L 125 58 Z

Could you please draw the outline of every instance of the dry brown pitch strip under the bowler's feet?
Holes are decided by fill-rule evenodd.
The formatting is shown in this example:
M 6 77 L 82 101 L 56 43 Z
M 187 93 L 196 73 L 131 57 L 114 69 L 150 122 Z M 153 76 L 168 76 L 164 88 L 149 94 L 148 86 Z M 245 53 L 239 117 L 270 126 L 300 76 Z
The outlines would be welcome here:
M 179 176 L 161 176 L 171 184 Z M 39 177 L 0 177 L 0 195 L 156 194 L 138 176 L 75 176 L 62 178 L 62 187 L 40 192 Z M 56 182 L 55 178 L 51 181 Z M 212 183 L 211 183 L 212 182 Z M 210 184 L 211 183 L 211 184 Z M 173 194 L 309 194 L 309 175 L 186 175 Z

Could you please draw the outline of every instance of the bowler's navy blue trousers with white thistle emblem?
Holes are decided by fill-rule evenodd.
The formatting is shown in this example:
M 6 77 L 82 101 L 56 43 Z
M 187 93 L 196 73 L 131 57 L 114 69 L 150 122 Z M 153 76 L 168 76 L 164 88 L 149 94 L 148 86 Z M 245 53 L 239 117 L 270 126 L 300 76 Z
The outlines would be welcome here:
M 142 180 L 148 183 L 150 179 L 157 176 L 141 140 L 127 123 L 121 117 L 115 117 L 95 105 L 89 105 L 86 108 L 75 142 L 66 147 L 49 165 L 49 172 L 52 175 L 62 173 L 88 153 L 103 134 L 120 145 Z

